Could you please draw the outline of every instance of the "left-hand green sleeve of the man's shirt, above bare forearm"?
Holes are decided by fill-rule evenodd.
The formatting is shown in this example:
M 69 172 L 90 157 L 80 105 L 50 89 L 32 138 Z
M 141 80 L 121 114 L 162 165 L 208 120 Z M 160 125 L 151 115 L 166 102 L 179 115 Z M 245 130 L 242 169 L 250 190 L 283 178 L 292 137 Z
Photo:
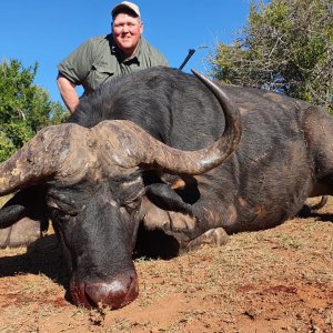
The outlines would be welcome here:
M 83 42 L 77 50 L 58 64 L 58 71 L 77 85 L 82 84 L 93 64 L 92 40 Z

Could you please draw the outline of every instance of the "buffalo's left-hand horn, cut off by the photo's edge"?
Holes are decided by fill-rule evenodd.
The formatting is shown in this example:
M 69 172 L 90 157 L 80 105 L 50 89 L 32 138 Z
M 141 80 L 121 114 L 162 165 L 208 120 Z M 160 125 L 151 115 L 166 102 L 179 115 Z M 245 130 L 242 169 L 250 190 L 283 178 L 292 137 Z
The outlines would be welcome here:
M 16 154 L 0 164 L 0 195 L 57 176 L 64 179 L 75 176 L 84 159 L 83 161 L 72 159 L 72 162 L 69 162 L 68 157 L 73 154 L 75 149 L 73 137 L 87 138 L 87 132 L 88 129 L 77 124 L 52 125 L 39 131 Z M 87 145 L 80 144 L 79 152 L 74 153 L 84 155 L 85 150 Z

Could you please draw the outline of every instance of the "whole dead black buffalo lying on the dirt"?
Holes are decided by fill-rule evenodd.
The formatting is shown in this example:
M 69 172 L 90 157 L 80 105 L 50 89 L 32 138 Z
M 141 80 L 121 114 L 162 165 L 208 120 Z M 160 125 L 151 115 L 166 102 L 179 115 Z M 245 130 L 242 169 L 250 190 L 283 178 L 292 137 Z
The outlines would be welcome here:
M 221 245 L 331 195 L 325 110 L 193 73 L 158 67 L 114 79 L 0 165 L 0 195 L 16 193 L 0 228 L 52 221 L 75 304 L 132 302 L 134 249 Z

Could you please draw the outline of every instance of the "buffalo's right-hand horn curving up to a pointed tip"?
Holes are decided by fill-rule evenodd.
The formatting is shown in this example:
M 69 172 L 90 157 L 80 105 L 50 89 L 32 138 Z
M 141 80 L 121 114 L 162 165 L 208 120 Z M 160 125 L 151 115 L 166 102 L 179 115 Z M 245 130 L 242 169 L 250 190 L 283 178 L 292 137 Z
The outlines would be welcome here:
M 105 140 L 99 142 L 102 145 L 100 150 L 111 153 L 112 159 L 121 161 L 124 168 L 141 165 L 148 169 L 162 169 L 175 174 L 201 174 L 223 163 L 235 150 L 241 139 L 240 112 L 219 85 L 195 71 L 193 73 L 212 91 L 223 109 L 225 130 L 216 142 L 198 151 L 181 151 L 155 140 L 130 121 L 115 120 L 104 121 L 97 125 L 95 131 L 100 134 L 95 134 L 100 138 L 102 135 L 117 137 L 115 141 L 122 148 L 114 149 L 111 140 Z M 120 154 L 115 158 L 117 152 Z M 112 172 L 113 163 L 109 161 L 104 164 L 107 168 L 109 165 Z

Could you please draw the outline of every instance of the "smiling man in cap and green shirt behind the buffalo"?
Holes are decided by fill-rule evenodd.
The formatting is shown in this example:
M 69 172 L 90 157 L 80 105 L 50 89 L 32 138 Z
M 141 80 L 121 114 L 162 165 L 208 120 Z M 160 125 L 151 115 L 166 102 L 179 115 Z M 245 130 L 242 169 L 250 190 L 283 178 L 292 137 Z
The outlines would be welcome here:
M 123 1 L 111 16 L 112 33 L 92 38 L 58 65 L 57 83 L 70 112 L 79 104 L 77 85 L 89 94 L 110 79 L 154 65 L 169 65 L 168 60 L 143 37 L 139 7 Z

